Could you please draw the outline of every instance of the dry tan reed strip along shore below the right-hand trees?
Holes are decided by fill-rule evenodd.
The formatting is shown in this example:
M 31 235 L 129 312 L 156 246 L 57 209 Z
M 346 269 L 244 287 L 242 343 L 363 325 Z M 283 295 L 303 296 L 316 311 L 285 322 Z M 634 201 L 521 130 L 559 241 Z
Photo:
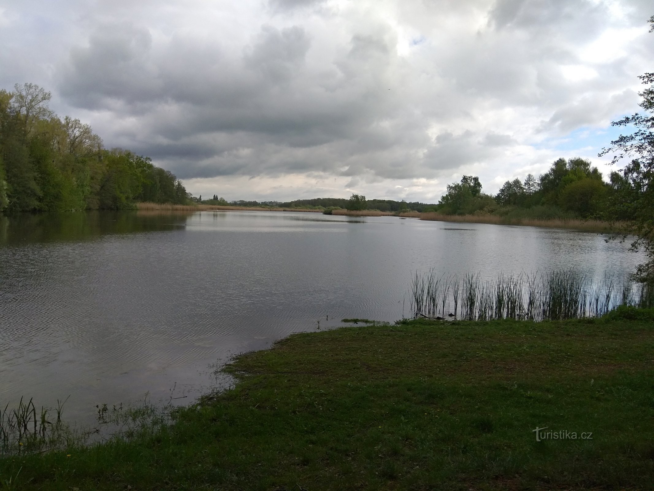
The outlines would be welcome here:
M 572 228 L 588 232 L 612 233 L 623 230 L 621 223 L 609 223 L 599 220 L 579 219 L 509 219 L 499 215 L 442 215 L 435 211 L 421 213 L 421 220 L 459 222 L 459 223 L 490 223 L 492 225 L 521 225 L 525 227 Z

